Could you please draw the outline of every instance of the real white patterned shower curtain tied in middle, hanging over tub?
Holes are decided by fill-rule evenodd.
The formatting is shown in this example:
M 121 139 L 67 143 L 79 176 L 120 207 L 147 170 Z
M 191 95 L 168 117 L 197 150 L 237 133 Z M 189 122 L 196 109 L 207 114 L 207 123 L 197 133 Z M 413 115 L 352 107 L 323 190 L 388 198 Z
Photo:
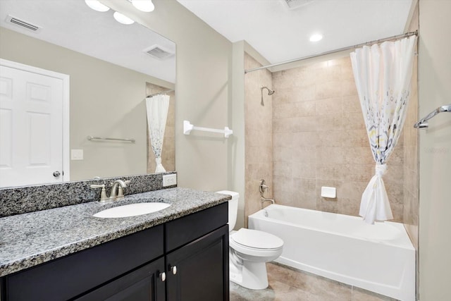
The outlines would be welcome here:
M 376 173 L 362 195 L 366 223 L 393 219 L 382 176 L 407 112 L 416 36 L 364 46 L 351 53 L 352 70 Z

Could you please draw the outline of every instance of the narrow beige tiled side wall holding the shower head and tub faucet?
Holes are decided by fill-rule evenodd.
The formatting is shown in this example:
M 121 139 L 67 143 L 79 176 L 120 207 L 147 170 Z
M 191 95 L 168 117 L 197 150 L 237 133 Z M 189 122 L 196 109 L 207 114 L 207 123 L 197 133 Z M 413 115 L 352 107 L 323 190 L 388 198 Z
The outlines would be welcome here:
M 259 62 L 245 54 L 245 69 L 257 68 Z M 273 188 L 273 97 L 264 90 L 264 106 L 261 106 L 262 86 L 272 87 L 271 73 L 259 70 L 245 76 L 245 227 L 247 216 L 261 209 L 259 182 Z M 272 190 L 265 195 L 271 197 Z

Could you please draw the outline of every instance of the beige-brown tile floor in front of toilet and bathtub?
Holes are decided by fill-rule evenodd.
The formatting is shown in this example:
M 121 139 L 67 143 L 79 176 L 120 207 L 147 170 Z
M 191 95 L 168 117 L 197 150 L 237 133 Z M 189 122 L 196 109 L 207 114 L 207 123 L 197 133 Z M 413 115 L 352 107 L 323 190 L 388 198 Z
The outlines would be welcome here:
M 230 301 L 396 301 L 289 266 L 271 262 L 266 267 L 268 288 L 248 290 L 230 282 Z

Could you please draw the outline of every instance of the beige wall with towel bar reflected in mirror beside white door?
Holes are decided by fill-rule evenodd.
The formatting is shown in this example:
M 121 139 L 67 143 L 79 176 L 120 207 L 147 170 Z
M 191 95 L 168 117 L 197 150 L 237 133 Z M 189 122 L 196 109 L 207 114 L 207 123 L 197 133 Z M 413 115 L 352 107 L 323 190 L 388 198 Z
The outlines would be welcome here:
M 70 149 L 84 151 L 83 160 L 70 161 L 70 180 L 146 173 L 146 82 L 173 84 L 3 27 L 0 35 L 2 59 L 70 75 Z M 91 142 L 87 135 L 136 143 Z

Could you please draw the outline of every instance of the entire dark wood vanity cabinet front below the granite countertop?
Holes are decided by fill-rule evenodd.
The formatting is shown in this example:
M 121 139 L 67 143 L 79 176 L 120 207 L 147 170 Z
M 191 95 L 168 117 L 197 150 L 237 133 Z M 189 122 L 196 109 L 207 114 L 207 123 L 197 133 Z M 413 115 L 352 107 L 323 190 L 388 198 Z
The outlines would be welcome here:
M 229 300 L 228 204 L 1 278 L 1 300 Z

